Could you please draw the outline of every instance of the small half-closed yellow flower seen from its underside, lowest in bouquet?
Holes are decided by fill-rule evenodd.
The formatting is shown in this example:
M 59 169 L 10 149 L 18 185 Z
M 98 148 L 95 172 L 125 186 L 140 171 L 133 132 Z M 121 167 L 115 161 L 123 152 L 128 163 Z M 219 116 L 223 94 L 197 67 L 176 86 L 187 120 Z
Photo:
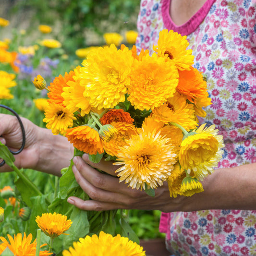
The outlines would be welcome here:
M 184 196 L 191 196 L 196 193 L 203 192 L 203 185 L 196 178 L 187 176 L 183 179 L 181 185 L 181 193 Z

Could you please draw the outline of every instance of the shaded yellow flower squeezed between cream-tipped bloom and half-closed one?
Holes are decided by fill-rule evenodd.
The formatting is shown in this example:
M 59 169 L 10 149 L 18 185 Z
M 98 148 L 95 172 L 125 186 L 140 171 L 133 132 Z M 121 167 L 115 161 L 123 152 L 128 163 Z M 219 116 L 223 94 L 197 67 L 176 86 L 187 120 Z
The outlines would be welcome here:
M 174 165 L 174 168 L 171 171 L 171 175 L 168 177 L 167 180 L 170 197 L 177 197 L 177 195 L 182 195 L 181 184 L 185 177 L 186 172 L 183 168 L 180 167 L 180 164 L 177 162 Z

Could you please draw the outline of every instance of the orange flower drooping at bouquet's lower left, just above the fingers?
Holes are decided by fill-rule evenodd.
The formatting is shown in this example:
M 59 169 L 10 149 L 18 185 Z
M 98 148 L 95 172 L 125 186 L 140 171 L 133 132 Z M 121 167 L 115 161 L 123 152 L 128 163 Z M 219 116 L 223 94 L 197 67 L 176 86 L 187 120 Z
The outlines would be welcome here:
M 102 154 L 104 152 L 98 131 L 90 126 L 84 125 L 67 129 L 65 136 L 74 147 L 89 155 Z

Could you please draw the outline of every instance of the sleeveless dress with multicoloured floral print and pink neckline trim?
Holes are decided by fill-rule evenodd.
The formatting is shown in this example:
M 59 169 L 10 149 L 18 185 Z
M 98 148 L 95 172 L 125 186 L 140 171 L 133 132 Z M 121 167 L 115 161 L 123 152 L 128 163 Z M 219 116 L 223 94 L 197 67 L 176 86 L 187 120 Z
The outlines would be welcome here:
M 138 50 L 152 49 L 162 29 L 186 35 L 212 98 L 201 122 L 215 124 L 225 143 L 218 168 L 256 162 L 256 0 L 207 0 L 181 26 L 171 21 L 170 2 L 141 1 Z M 160 231 L 176 256 L 256 255 L 256 211 L 163 213 Z

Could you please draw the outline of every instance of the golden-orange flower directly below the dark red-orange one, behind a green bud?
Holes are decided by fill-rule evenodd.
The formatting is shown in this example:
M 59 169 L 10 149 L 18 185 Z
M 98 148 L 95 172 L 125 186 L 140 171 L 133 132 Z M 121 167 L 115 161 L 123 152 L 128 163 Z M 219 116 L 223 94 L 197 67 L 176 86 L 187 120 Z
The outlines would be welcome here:
M 114 157 L 120 152 L 119 147 L 126 145 L 127 140 L 137 134 L 137 128 L 133 124 L 125 122 L 112 122 L 111 125 L 118 130 L 118 133 L 102 143 L 106 153 Z

